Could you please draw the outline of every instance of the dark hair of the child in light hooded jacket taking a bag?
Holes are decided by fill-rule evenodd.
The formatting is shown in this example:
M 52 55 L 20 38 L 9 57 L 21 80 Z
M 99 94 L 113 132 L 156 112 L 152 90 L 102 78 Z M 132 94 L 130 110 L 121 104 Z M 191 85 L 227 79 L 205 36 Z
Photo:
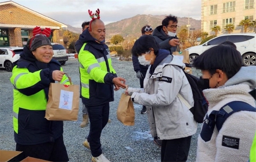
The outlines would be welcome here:
M 131 53 L 133 54 L 133 56 L 138 56 L 142 53 L 147 52 L 150 48 L 153 48 L 154 54 L 157 55 L 160 46 L 153 36 L 143 35 L 134 42 Z

